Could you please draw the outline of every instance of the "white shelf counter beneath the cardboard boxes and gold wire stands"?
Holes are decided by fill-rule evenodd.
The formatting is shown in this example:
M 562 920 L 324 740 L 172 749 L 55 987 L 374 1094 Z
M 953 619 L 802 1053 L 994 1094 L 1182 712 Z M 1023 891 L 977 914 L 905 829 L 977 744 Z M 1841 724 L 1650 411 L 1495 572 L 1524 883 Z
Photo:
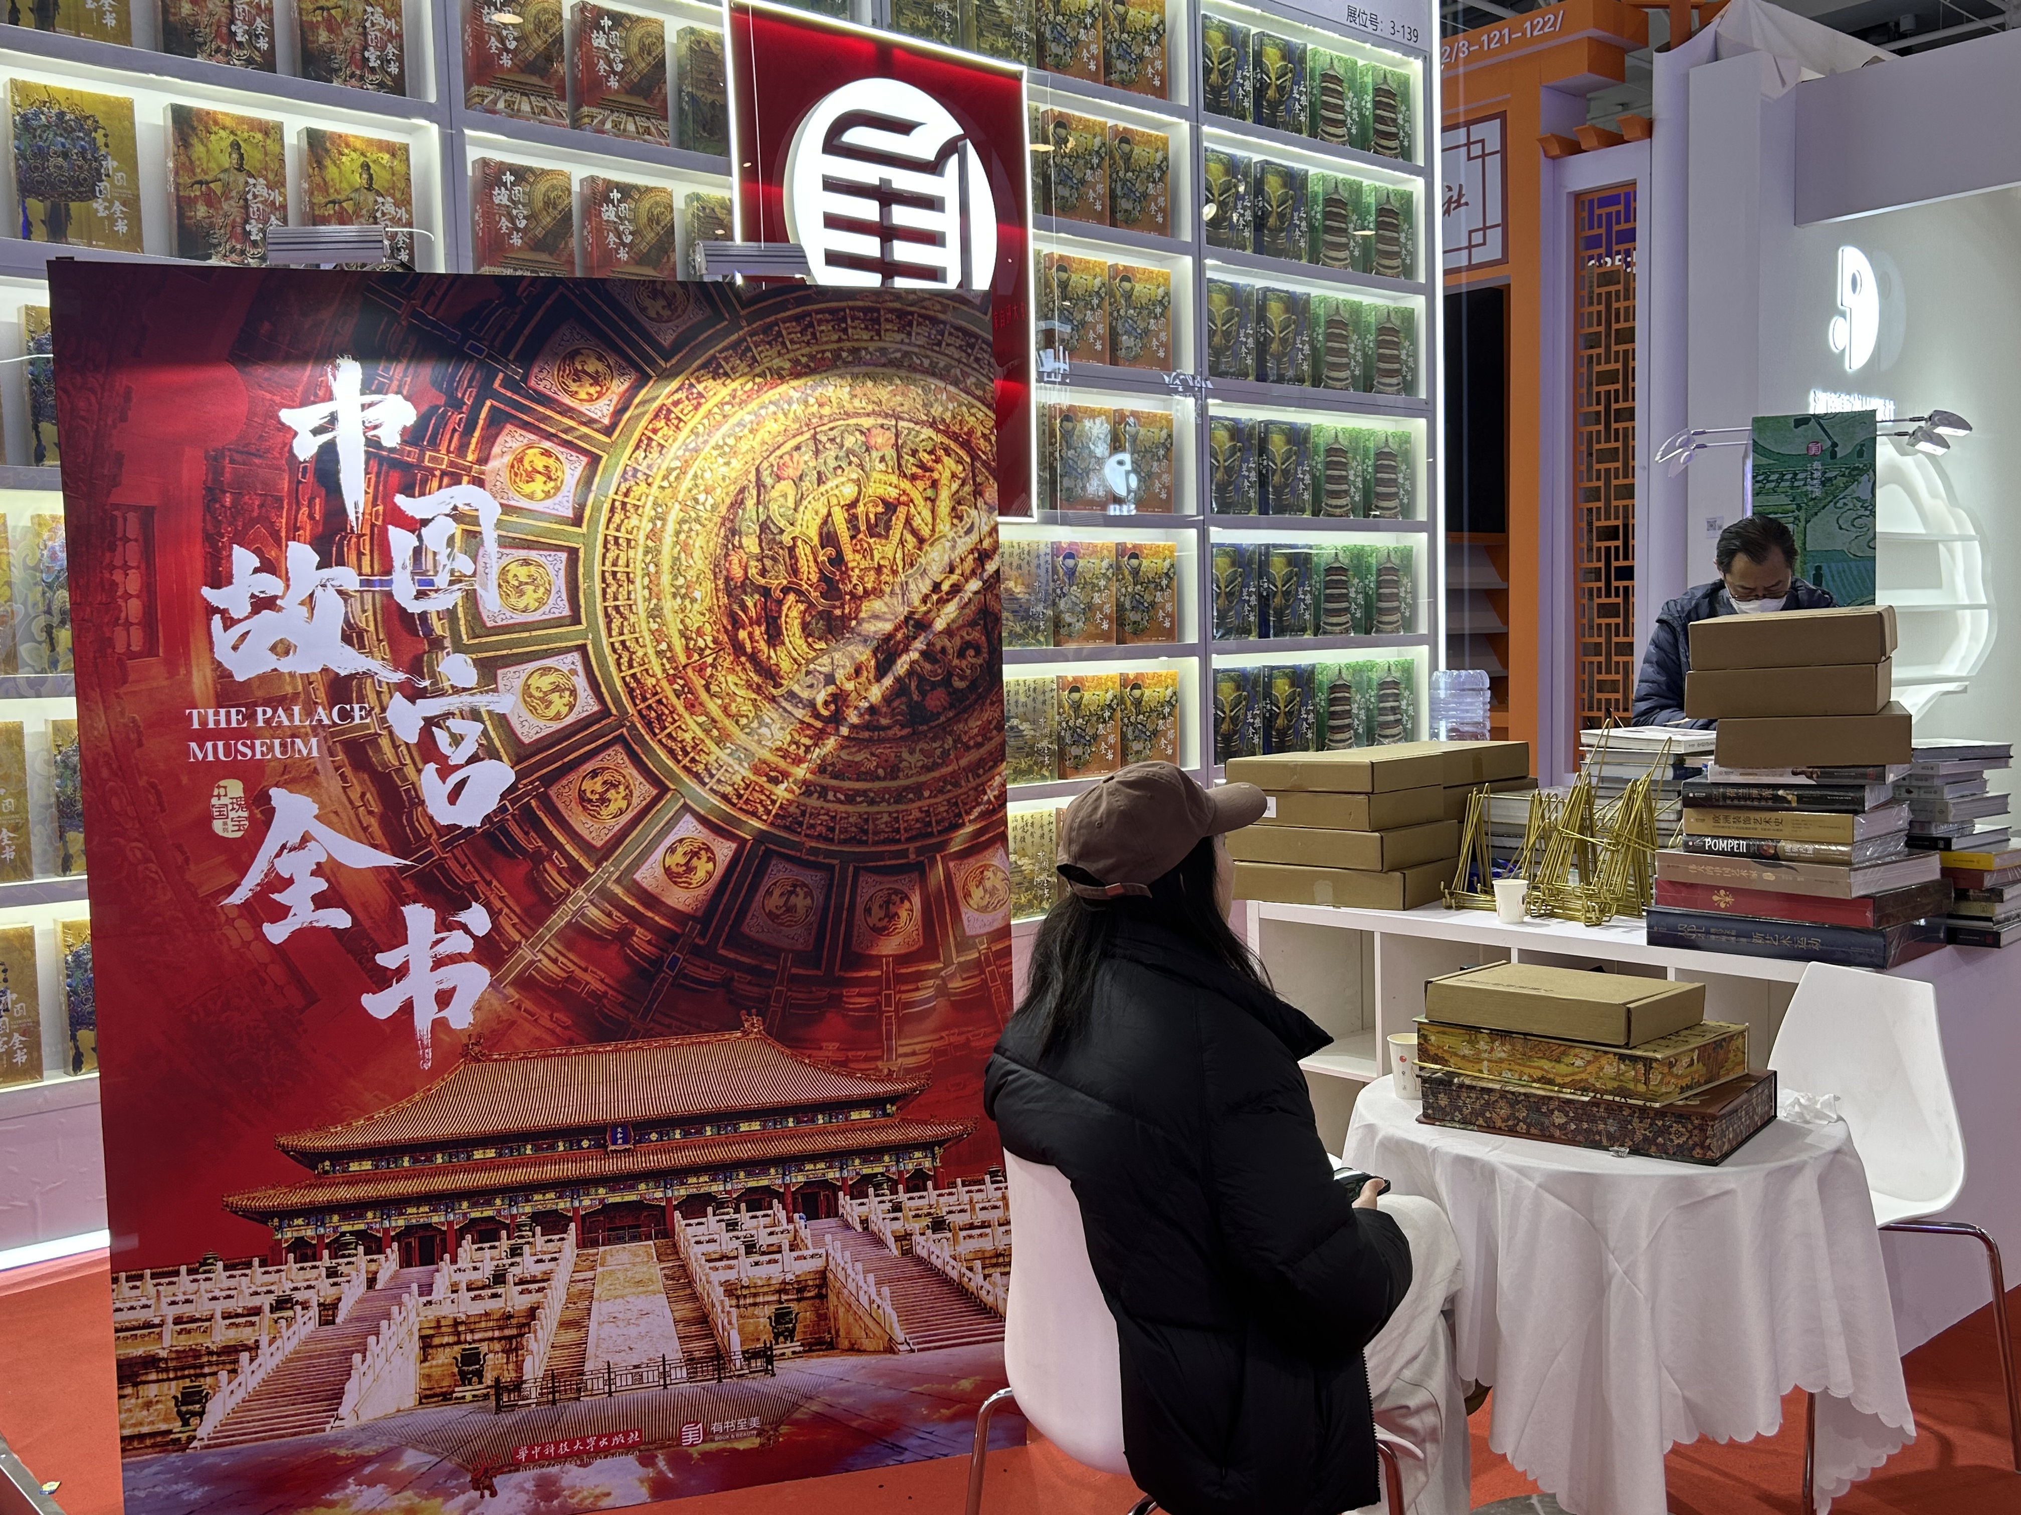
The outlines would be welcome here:
M 1706 1018 L 1748 1028 L 1748 1065 L 1768 1065 L 1805 964 L 1688 947 L 1651 947 L 1643 923 L 1615 919 L 1502 925 L 1491 911 L 1334 909 L 1243 905 L 1237 921 L 1277 992 L 1334 1034 L 1304 1060 L 1320 1133 L 1332 1151 L 1348 1131 L 1362 1087 L 1390 1073 L 1388 1036 L 1411 1030 L 1425 1008 L 1425 980 L 1494 962 L 1605 968 L 1611 974 L 1706 986 Z

